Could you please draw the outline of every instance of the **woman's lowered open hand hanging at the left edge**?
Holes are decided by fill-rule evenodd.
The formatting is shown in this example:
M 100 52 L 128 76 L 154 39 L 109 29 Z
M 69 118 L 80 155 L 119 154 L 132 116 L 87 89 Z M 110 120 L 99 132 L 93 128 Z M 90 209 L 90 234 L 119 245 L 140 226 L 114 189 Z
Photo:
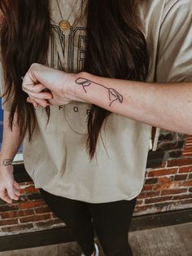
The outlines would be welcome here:
M 20 185 L 13 177 L 13 166 L 2 166 L 0 169 L 0 198 L 11 204 L 20 198 Z

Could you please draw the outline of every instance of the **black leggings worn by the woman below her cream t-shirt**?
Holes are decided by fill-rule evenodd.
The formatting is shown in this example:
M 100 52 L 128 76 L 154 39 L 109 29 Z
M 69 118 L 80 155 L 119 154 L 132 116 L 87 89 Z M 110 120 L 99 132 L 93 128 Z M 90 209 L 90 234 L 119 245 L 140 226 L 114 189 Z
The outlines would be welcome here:
M 52 195 L 40 189 L 46 204 L 68 227 L 83 253 L 94 252 L 94 229 L 107 256 L 133 255 L 128 242 L 128 232 L 136 203 L 115 201 L 90 204 Z

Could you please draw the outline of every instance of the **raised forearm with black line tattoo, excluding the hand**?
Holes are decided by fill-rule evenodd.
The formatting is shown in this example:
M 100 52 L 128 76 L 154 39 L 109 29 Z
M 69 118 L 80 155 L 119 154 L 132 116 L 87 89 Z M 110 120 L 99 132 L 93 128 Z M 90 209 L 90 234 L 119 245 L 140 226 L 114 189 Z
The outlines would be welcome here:
M 70 95 L 137 121 L 192 135 L 192 82 L 149 83 L 79 73 Z

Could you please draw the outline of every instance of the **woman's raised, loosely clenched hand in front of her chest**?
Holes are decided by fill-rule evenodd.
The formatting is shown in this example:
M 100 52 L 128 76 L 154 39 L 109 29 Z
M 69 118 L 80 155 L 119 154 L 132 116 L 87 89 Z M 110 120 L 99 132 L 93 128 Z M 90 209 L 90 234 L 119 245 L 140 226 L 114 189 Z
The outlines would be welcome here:
M 32 64 L 23 78 L 23 90 L 28 94 L 27 101 L 37 108 L 48 105 L 68 104 L 69 91 L 74 84 L 73 74 L 64 73 L 41 64 Z

